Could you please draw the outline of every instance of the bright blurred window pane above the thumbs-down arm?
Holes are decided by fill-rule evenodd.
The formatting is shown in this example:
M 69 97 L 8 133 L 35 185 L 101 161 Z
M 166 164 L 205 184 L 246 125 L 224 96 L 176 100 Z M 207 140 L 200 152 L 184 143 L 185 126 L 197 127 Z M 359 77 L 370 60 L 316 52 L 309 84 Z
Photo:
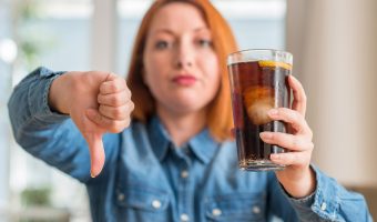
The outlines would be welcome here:
M 19 46 L 13 84 L 38 65 L 90 69 L 91 0 L 19 0 L 14 39 Z

